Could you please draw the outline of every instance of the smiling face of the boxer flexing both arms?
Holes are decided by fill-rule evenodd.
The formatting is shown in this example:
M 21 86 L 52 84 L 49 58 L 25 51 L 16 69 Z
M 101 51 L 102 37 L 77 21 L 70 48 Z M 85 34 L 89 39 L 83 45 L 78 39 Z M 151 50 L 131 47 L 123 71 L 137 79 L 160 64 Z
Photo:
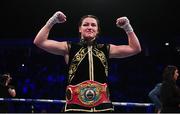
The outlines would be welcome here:
M 86 40 L 94 39 L 98 34 L 98 24 L 96 19 L 87 17 L 82 21 L 82 25 L 79 27 L 81 38 Z

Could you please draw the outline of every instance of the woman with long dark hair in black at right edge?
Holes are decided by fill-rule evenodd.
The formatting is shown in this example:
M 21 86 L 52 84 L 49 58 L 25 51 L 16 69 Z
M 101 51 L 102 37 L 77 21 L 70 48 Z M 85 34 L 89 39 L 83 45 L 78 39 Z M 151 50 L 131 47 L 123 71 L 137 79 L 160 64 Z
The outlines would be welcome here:
M 176 85 L 179 73 L 178 68 L 168 65 L 163 71 L 163 83 L 160 90 L 162 103 L 161 112 L 180 112 L 180 89 Z

